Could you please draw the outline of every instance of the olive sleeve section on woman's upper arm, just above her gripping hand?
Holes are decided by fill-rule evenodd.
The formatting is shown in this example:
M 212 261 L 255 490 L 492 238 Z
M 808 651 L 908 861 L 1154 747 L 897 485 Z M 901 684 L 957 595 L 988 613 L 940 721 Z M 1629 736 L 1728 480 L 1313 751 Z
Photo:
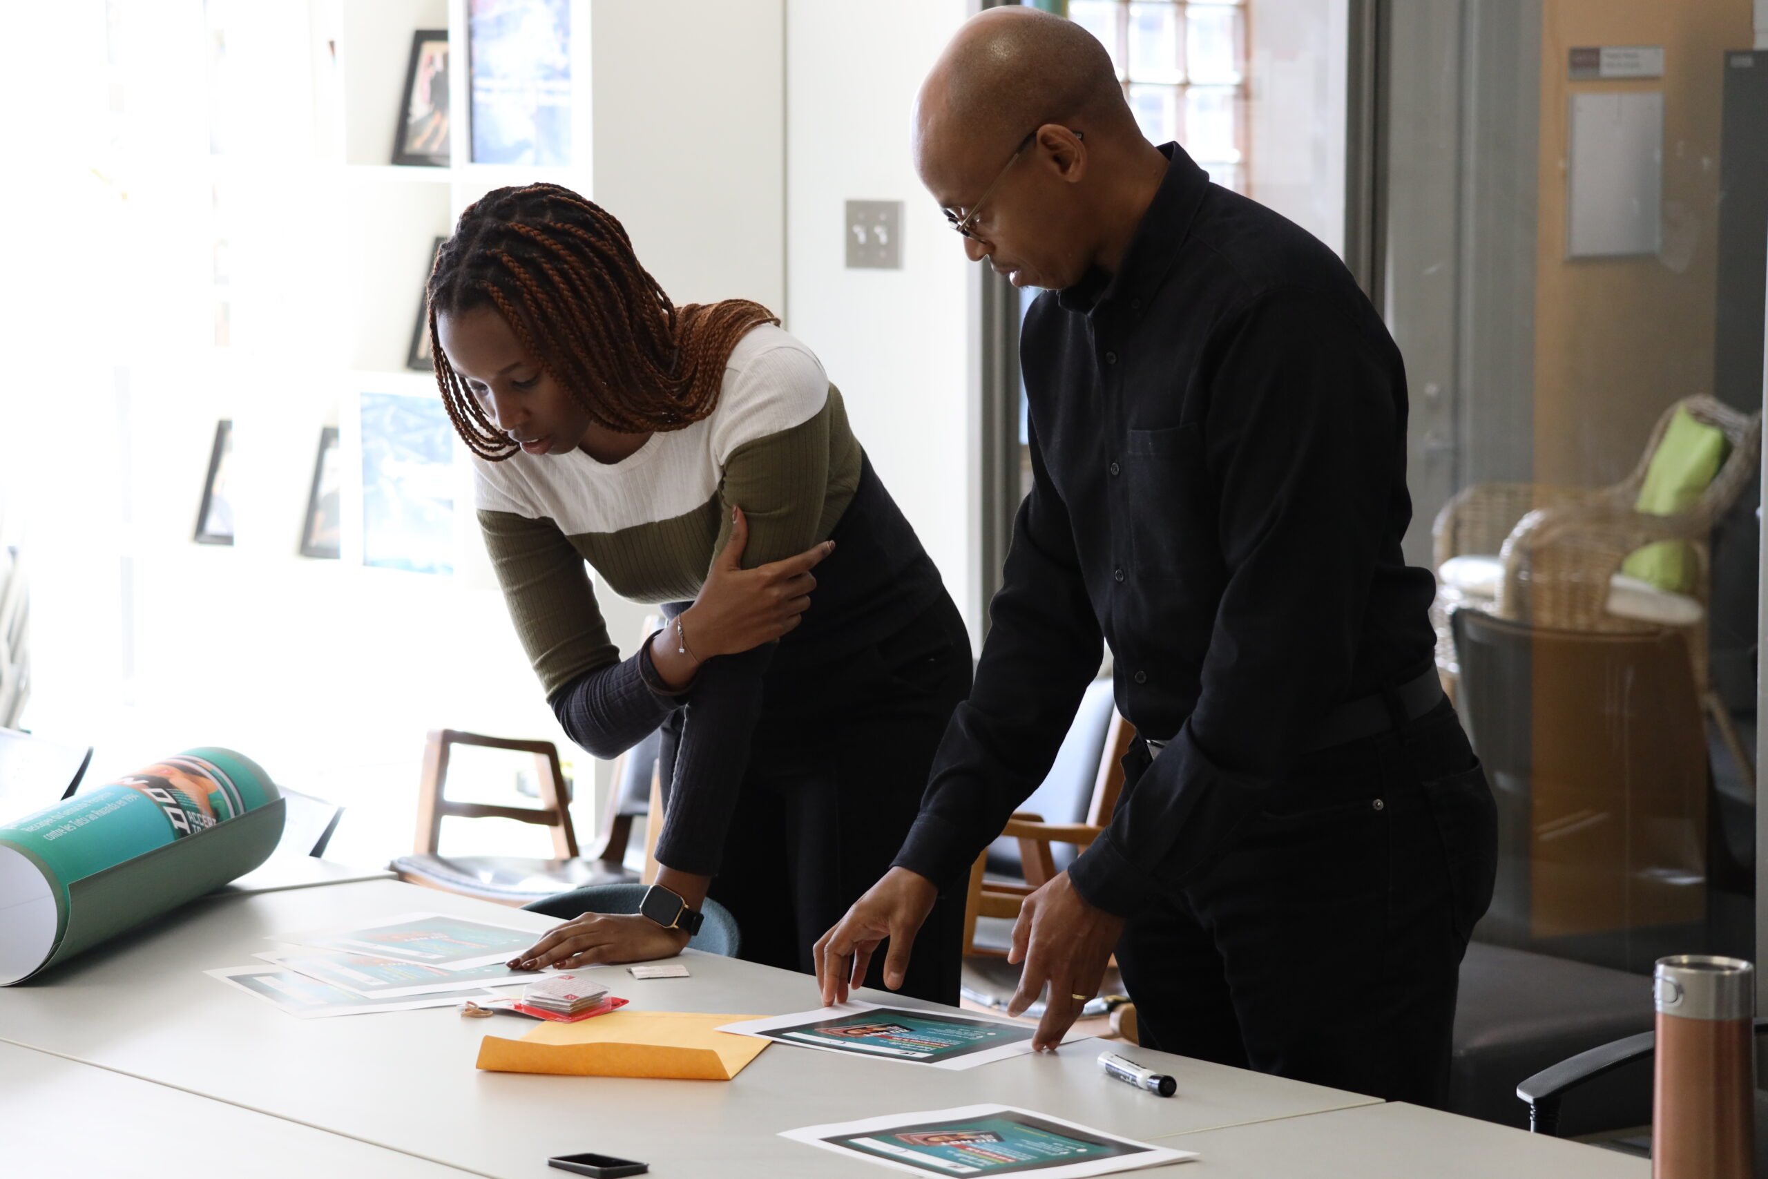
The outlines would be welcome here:
M 815 417 L 780 433 L 744 442 L 730 453 L 720 484 L 720 525 L 714 553 L 730 541 L 730 509 L 750 521 L 743 567 L 796 557 L 829 539 L 859 488 L 859 440 L 847 426 L 842 394 Z

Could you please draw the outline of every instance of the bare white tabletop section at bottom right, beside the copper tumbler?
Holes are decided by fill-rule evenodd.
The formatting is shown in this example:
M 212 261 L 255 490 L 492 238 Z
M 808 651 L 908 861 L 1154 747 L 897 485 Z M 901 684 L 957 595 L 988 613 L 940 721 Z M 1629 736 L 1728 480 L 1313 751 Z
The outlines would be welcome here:
M 1365 1105 L 1162 1138 L 1197 1151 L 1183 1179 L 1650 1179 L 1651 1161 L 1441 1114 Z

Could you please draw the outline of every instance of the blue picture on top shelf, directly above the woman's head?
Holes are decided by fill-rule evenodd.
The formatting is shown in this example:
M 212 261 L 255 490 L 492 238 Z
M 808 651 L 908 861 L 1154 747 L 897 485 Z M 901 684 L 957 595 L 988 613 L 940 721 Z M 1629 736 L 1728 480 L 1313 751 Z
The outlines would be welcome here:
M 472 163 L 571 163 L 571 0 L 467 0 Z

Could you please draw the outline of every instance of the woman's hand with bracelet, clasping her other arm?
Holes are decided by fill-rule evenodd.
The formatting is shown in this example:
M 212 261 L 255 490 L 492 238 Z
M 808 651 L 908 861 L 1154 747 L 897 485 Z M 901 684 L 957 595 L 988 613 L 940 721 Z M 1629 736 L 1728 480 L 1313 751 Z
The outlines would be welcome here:
M 806 548 L 797 557 L 744 569 L 741 562 L 748 539 L 750 525 L 743 509 L 730 509 L 730 543 L 713 560 L 700 596 L 679 619 L 688 654 L 681 652 L 674 626 L 667 626 L 652 640 L 651 663 L 670 688 L 684 686 L 698 665 L 713 656 L 732 656 L 771 643 L 794 629 L 810 610 L 810 590 L 817 589 L 817 578 L 810 571 L 834 551 L 834 541 Z

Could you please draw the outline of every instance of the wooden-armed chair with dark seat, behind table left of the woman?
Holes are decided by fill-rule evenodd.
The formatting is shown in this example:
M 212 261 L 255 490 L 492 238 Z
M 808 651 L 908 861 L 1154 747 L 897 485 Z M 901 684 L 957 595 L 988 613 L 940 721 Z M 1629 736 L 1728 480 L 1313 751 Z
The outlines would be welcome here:
M 449 751 L 454 746 L 481 746 L 511 749 L 534 757 L 539 778 L 541 806 L 495 806 L 488 802 L 451 802 L 446 797 Z M 645 751 L 649 746 L 649 762 Z M 578 856 L 576 831 L 571 825 L 569 797 L 564 771 L 559 767 L 559 748 L 550 741 L 514 741 L 486 737 L 453 728 L 430 734 L 424 746 L 424 772 L 417 788 L 417 845 L 410 856 L 392 861 L 401 880 L 446 893 L 461 893 L 500 905 L 529 905 L 569 889 L 589 884 L 622 884 L 635 873 L 622 864 L 626 840 L 631 831 L 629 808 L 624 806 L 628 778 L 642 778 L 649 790 L 656 776 L 656 744 L 640 742 L 615 762 L 615 788 L 608 795 L 603 827 L 608 833 L 591 857 Z M 513 818 L 539 824 L 552 831 L 553 859 L 527 859 L 514 856 L 440 856 L 437 843 L 442 820 L 458 818 Z

